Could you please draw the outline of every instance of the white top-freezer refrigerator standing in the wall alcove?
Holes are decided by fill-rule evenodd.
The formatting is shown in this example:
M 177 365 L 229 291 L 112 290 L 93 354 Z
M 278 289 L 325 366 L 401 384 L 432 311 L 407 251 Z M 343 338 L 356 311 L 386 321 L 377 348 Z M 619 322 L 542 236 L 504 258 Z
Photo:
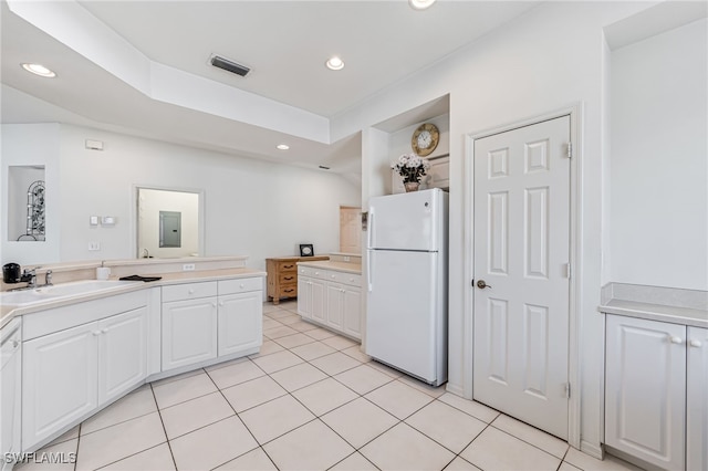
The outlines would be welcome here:
M 366 353 L 434 386 L 447 381 L 447 192 L 371 199 Z

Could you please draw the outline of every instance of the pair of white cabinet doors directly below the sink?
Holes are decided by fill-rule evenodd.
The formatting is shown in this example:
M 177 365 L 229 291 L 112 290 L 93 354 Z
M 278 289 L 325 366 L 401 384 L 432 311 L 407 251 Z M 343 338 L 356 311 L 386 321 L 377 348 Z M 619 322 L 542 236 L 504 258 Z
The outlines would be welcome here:
M 143 381 L 146 348 L 146 306 L 24 342 L 22 448 Z

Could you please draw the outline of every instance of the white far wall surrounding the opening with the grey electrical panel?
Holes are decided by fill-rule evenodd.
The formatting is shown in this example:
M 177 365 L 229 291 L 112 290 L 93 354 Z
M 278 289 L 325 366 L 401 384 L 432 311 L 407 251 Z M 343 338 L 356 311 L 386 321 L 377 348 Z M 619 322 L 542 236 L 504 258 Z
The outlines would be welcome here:
M 134 258 L 135 186 L 202 189 L 205 254 L 249 255 L 249 266 L 257 269 L 266 268 L 268 257 L 299 253 L 303 242 L 313 243 L 317 253 L 339 251 L 339 207 L 358 206 L 361 199 L 358 188 L 326 171 L 69 125 L 3 126 L 3 168 L 6 156 L 25 161 L 29 129 L 32 142 L 46 142 L 49 154 L 58 161 L 61 156 L 58 174 L 50 175 L 55 164 L 46 164 L 48 191 L 61 188 L 48 203 L 48 213 L 59 218 L 61 250 L 39 258 L 3 247 L 3 263 Z M 85 139 L 104 142 L 104 150 L 85 149 Z M 114 216 L 117 223 L 91 228 L 90 216 Z M 100 242 L 101 251 L 88 251 L 91 241 Z

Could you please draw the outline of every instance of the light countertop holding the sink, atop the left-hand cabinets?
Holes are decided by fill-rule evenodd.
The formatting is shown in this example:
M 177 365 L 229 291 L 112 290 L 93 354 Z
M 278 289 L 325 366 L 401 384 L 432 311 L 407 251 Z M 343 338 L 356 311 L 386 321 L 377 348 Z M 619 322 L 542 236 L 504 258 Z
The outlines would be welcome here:
M 145 290 L 155 286 L 165 286 L 170 284 L 190 283 L 190 282 L 206 282 L 206 281 L 219 281 L 238 278 L 252 278 L 252 276 L 266 276 L 267 273 L 253 269 L 237 268 L 237 269 L 222 269 L 222 270 L 204 270 L 194 272 L 171 272 L 171 273 L 158 273 L 155 276 L 162 276 L 162 280 L 154 282 L 135 281 L 119 286 L 112 287 L 110 290 L 103 290 L 95 293 L 84 293 L 74 296 L 61 297 L 61 299 L 48 299 L 43 302 L 32 303 L 30 305 L 0 305 L 0 328 L 7 325 L 12 318 L 24 315 L 45 311 L 53 307 L 60 307 L 70 304 L 82 303 L 85 301 L 97 300 L 101 297 L 113 296 L 115 294 L 127 293 L 137 290 Z M 144 276 L 150 276 L 150 274 L 144 274 Z M 117 280 L 117 278 L 112 278 Z

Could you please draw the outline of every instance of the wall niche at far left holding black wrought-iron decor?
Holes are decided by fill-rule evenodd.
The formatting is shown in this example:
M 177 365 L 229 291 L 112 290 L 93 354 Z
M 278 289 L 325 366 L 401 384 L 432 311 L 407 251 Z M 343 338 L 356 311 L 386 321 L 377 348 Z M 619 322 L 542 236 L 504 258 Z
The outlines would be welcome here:
M 45 240 L 44 178 L 43 165 L 9 167 L 8 241 Z

